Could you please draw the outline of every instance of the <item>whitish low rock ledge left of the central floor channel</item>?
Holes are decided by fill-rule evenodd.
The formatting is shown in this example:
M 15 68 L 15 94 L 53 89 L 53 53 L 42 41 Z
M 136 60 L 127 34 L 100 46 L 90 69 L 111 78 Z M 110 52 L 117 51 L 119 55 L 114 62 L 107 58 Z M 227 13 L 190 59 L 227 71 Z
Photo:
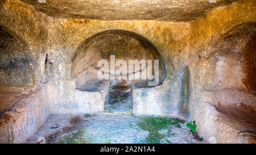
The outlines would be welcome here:
M 109 83 L 104 82 L 98 91 L 81 91 L 75 89 L 75 82 L 72 81 L 49 82 L 44 94 L 49 100 L 45 102 L 51 114 L 101 112 L 104 110 Z

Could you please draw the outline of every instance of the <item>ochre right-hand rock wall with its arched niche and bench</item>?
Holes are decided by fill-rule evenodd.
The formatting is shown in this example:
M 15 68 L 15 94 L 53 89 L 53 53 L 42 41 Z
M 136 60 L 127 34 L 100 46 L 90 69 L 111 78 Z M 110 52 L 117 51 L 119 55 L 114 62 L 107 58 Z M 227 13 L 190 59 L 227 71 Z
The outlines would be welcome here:
M 241 132 L 243 127 L 234 127 L 241 122 L 241 117 L 235 117 L 233 121 L 237 124 L 233 125 L 228 119 L 220 119 L 221 114 L 216 107 L 236 107 L 255 113 L 255 91 L 251 84 L 245 82 L 249 74 L 253 76 L 253 73 L 246 72 L 245 47 L 254 35 L 253 1 L 238 1 L 218 7 L 205 17 L 191 21 L 189 111 L 191 120 L 197 122 L 199 135 L 206 140 L 214 137 L 217 143 L 253 143 L 253 136 Z M 255 48 L 251 47 L 250 53 L 254 51 Z M 255 57 L 250 56 L 250 66 L 255 66 L 254 61 Z M 247 108 L 242 108 L 243 104 Z M 243 137 L 246 134 L 247 137 Z

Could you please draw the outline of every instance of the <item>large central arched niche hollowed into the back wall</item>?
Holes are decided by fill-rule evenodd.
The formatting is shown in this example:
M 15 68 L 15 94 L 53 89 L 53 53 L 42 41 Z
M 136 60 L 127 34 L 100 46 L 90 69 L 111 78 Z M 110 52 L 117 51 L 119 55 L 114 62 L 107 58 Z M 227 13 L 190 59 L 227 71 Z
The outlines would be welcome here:
M 114 61 L 110 60 L 110 56 L 114 56 Z M 108 65 L 102 66 L 100 64 L 99 66 L 98 62 L 100 60 L 106 60 Z M 138 63 L 144 61 L 146 64 L 145 66 L 137 68 L 135 67 L 134 62 L 131 64 L 129 60 L 138 60 Z M 151 67 L 148 66 L 147 60 L 151 60 Z M 163 62 L 164 58 L 160 55 L 154 44 L 138 33 L 131 31 L 103 31 L 85 40 L 76 49 L 72 57 L 72 77 L 77 78 L 77 88 L 80 90 L 82 87 L 86 87 L 86 85 L 88 86 L 89 83 L 93 83 L 93 81 L 100 82 L 97 77 L 97 72 L 99 70 L 102 74 L 108 74 L 108 79 L 116 76 L 120 79 L 129 80 L 129 76 L 131 75 L 142 79 L 142 74 L 147 74 L 148 67 L 152 70 L 151 75 L 154 75 L 154 60 L 160 60 L 160 81 L 158 83 L 161 83 L 166 76 Z M 125 62 L 126 64 L 125 70 L 121 69 L 122 62 Z M 129 63 L 134 69 L 129 70 Z M 111 71 L 110 65 L 115 65 L 114 74 Z M 120 74 L 118 75 L 117 72 Z M 137 84 L 142 85 L 139 81 L 146 83 L 146 79 L 148 78 L 146 77 L 144 80 L 137 80 Z M 156 83 L 156 85 L 158 85 L 158 83 Z

